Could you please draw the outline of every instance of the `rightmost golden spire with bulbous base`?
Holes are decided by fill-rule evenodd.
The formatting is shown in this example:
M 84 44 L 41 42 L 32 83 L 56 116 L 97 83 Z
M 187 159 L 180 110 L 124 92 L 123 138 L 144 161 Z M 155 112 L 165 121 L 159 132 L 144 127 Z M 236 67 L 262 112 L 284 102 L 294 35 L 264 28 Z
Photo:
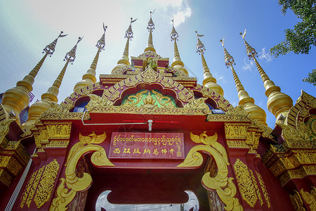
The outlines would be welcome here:
M 240 33 L 242 34 L 242 33 Z M 242 39 L 246 36 L 246 30 L 242 34 Z M 263 68 L 256 60 L 256 50 L 252 48 L 244 39 L 244 44 L 246 45 L 246 53 L 249 59 L 253 58 L 256 63 L 257 69 L 260 73 L 261 79 L 263 81 L 263 86 L 265 87 L 265 96 L 268 97 L 267 107 L 270 113 L 275 115 L 276 119 L 279 120 L 279 117 L 283 115 L 287 117 L 289 109 L 293 106 L 293 101 L 290 96 L 281 92 L 281 89 L 275 86 L 275 83 L 269 79 L 268 75 L 265 74 Z

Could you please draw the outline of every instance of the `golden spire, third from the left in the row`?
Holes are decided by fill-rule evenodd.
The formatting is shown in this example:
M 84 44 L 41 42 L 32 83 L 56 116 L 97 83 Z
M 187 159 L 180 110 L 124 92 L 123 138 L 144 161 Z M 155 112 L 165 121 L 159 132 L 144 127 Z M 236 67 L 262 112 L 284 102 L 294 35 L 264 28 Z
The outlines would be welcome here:
M 107 26 L 105 26 L 104 23 L 103 23 L 103 30 L 104 30 L 104 33 L 96 44 L 98 51 L 96 53 L 96 56 L 93 59 L 93 62 L 90 65 L 90 69 L 88 69 L 86 71 L 86 74 L 82 76 L 82 80 L 80 82 L 77 82 L 76 85 L 74 85 L 74 92 L 90 84 L 96 83 L 96 66 L 98 64 L 100 51 L 102 51 L 105 47 L 105 31 L 107 30 Z

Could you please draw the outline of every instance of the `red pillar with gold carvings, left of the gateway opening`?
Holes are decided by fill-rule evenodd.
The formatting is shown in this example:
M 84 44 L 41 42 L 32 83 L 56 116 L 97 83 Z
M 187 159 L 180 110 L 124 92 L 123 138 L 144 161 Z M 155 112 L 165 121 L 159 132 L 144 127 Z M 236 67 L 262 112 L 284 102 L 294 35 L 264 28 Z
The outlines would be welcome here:
M 55 186 L 65 162 L 70 143 L 71 122 L 38 122 L 32 130 L 37 152 L 32 155 L 35 167 L 25 182 L 19 209 L 48 210 Z

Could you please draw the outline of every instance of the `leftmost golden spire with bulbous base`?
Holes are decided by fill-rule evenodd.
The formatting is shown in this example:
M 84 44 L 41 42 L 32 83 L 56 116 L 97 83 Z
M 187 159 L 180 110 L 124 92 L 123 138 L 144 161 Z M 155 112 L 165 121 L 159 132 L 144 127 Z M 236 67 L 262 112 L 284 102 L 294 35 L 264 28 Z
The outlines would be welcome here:
M 45 52 L 45 55 L 39 63 L 29 72 L 29 75 L 26 75 L 21 81 L 19 81 L 16 84 L 16 87 L 12 89 L 8 89 L 4 92 L 4 96 L 2 99 L 2 104 L 4 106 L 4 109 L 7 113 L 11 113 L 13 111 L 15 117 L 17 118 L 16 122 L 20 124 L 20 112 L 21 110 L 27 108 L 29 105 L 29 92 L 33 90 L 32 84 L 34 83 L 34 78 L 37 76 L 37 73 L 39 72 L 39 69 L 41 68 L 41 65 L 43 65 L 44 60 L 49 55 L 53 55 L 55 51 L 55 46 L 57 44 L 59 37 L 65 37 L 67 34 L 62 34 L 63 32 L 60 32 L 58 37 L 51 42 L 51 44 L 48 44 L 43 53 Z

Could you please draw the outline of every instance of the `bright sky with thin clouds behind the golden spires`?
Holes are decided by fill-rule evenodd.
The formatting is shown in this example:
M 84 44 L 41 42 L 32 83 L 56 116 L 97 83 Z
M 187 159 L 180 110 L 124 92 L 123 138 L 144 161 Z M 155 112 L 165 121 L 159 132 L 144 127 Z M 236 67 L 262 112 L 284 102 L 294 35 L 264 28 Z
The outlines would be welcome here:
M 267 113 L 267 122 L 274 127 L 275 117 L 266 108 L 261 77 L 252 60 L 246 56 L 244 42 L 239 32 L 246 28 L 246 40 L 258 52 L 258 61 L 270 79 L 282 92 L 288 94 L 294 103 L 301 95 L 301 89 L 316 96 L 312 84 L 302 82 L 308 72 L 316 68 L 315 47 L 309 55 L 272 58 L 268 50 L 284 40 L 284 30 L 292 28 L 298 20 L 289 11 L 282 15 L 277 1 L 1 1 L 0 2 L 0 91 L 15 87 L 42 58 L 44 47 L 63 30 L 69 36 L 58 40 L 55 53 L 47 58 L 35 78 L 32 93 L 35 99 L 51 87 L 65 64 L 63 58 L 72 49 L 77 37 L 84 36 L 77 48 L 76 60 L 67 68 L 58 95 L 59 103 L 72 94 L 74 84 L 91 65 L 96 55 L 96 41 L 103 34 L 103 22 L 108 26 L 105 35 L 105 51 L 100 53 L 97 78 L 100 74 L 110 74 L 124 51 L 124 32 L 129 27 L 131 17 L 138 18 L 133 23 L 134 38 L 130 42 L 129 56 L 143 53 L 147 45 L 146 30 L 150 11 L 155 24 L 154 47 L 157 53 L 173 60 L 173 42 L 170 39 L 171 19 L 174 16 L 179 34 L 180 58 L 189 69 L 190 77 L 197 77 L 202 84 L 203 70 L 201 57 L 195 46 L 199 34 L 206 51 L 206 63 L 213 77 L 223 87 L 224 97 L 237 106 L 237 90 L 230 68 L 225 67 L 223 47 L 220 39 L 225 36 L 225 48 L 235 59 L 235 71 L 249 96 L 256 105 Z

